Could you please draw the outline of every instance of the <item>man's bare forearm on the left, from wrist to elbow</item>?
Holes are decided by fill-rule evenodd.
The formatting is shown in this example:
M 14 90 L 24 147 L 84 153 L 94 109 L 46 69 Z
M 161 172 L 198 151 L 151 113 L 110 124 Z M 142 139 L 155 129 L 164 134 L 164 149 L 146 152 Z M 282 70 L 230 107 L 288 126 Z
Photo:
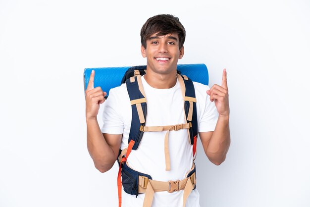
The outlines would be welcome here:
M 86 123 L 88 152 L 93 158 L 96 168 L 105 172 L 113 166 L 116 160 L 115 154 L 105 141 L 97 118 L 87 119 Z

